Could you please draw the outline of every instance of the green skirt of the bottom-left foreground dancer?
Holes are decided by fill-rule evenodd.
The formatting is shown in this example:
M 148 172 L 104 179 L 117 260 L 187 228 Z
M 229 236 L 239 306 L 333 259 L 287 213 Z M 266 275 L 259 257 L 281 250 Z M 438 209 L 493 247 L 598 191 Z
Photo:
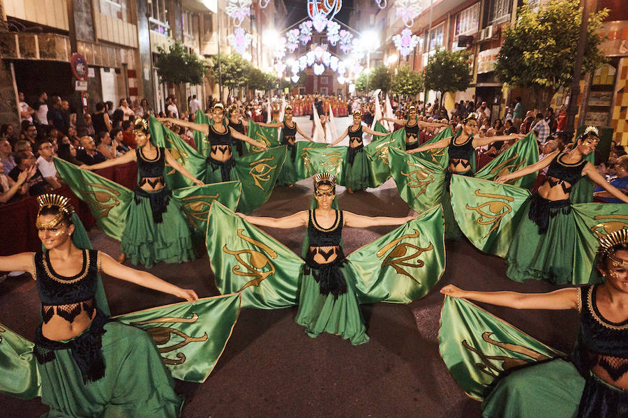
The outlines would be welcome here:
M 71 350 L 38 364 L 41 400 L 50 406 L 43 417 L 170 418 L 179 417 L 183 400 L 151 336 L 119 322 L 105 324 L 105 377 L 83 383 Z

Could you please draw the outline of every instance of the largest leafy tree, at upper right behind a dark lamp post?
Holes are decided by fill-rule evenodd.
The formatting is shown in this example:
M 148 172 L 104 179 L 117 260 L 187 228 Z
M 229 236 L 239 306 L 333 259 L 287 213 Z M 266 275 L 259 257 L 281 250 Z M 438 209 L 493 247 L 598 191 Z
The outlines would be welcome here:
M 537 109 L 543 109 L 558 89 L 571 84 L 582 9 L 578 0 L 551 0 L 538 11 L 524 3 L 517 15 L 516 26 L 505 33 L 495 75 L 512 87 L 532 89 Z M 606 16 L 608 9 L 588 19 L 581 77 L 604 64 L 597 32 Z

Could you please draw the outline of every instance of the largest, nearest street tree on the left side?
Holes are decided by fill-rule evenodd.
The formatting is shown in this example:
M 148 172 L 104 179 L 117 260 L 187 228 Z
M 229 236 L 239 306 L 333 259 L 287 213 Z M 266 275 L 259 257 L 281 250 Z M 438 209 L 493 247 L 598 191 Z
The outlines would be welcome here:
M 168 49 L 159 46 L 157 50 L 155 66 L 161 80 L 177 86 L 181 83 L 202 84 L 207 68 L 195 54 L 186 51 L 181 41 L 177 40 Z

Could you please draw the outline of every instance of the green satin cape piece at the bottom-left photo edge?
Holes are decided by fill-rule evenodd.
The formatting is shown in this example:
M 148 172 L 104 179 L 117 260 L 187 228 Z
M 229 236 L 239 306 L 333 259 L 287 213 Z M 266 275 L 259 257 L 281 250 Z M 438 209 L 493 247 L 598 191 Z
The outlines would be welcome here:
M 0 324 L 0 392 L 22 399 L 41 396 L 34 344 Z

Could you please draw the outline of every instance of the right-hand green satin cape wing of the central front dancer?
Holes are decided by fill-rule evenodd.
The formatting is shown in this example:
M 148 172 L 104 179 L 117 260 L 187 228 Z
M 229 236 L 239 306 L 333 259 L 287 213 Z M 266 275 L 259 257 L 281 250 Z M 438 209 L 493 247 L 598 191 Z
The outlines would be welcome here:
M 361 304 L 408 304 L 424 297 L 445 267 L 442 207 L 437 206 L 351 253 L 345 267 Z

